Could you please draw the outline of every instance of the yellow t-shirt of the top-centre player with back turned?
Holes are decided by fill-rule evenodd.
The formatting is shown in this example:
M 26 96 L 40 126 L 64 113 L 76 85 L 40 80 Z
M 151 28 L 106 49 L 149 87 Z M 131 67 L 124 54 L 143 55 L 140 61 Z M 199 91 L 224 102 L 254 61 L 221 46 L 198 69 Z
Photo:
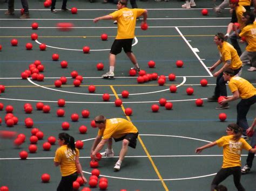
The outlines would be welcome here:
M 132 39 L 135 37 L 136 18 L 144 13 L 144 9 L 123 8 L 114 11 L 110 15 L 117 20 L 116 39 Z

